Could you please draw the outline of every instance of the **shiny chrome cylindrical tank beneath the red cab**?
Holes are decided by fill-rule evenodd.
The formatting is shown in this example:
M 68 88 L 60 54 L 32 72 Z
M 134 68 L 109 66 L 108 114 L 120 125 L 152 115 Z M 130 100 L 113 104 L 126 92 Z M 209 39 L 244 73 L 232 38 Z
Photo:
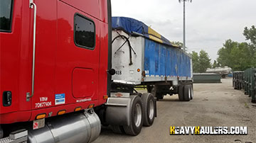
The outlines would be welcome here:
M 100 135 L 100 118 L 93 110 L 53 118 L 39 130 L 28 131 L 28 143 L 93 142 Z

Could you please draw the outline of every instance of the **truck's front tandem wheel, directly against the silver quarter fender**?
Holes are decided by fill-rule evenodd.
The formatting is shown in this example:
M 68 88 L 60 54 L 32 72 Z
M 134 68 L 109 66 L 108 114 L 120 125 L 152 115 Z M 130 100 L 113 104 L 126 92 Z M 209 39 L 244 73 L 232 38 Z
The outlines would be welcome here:
M 131 120 L 129 126 L 124 126 L 124 132 L 127 135 L 139 135 L 143 124 L 142 99 L 139 96 L 131 96 Z

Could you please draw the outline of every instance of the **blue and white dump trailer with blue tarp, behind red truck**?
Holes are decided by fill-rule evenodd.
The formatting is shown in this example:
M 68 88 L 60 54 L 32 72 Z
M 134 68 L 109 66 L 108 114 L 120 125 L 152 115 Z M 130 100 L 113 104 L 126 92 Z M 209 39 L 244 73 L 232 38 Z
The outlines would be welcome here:
M 112 91 L 128 84 L 128 91 L 144 86 L 157 100 L 167 94 L 193 99 L 191 57 L 141 21 L 112 18 L 112 68 Z

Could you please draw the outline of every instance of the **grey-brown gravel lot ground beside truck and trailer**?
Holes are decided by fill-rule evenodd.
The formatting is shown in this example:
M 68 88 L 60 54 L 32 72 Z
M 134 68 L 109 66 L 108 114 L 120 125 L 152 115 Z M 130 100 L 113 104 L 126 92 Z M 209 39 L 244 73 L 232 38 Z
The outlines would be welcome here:
M 179 102 L 178 96 L 165 96 L 157 102 L 157 115 L 151 127 L 143 127 L 137 137 L 116 135 L 104 128 L 94 143 L 100 142 L 256 142 L 256 108 L 242 91 L 234 90 L 232 79 L 222 84 L 194 84 L 194 99 Z M 170 126 L 247 126 L 247 135 L 169 135 Z

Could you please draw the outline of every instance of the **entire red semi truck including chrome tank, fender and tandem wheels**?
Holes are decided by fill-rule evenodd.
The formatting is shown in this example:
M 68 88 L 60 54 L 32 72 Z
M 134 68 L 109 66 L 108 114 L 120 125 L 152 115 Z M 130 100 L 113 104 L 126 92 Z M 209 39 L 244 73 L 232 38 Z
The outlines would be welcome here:
M 153 124 L 151 93 L 111 89 L 110 0 L 0 3 L 0 142 L 93 142 L 101 123 L 127 135 Z

